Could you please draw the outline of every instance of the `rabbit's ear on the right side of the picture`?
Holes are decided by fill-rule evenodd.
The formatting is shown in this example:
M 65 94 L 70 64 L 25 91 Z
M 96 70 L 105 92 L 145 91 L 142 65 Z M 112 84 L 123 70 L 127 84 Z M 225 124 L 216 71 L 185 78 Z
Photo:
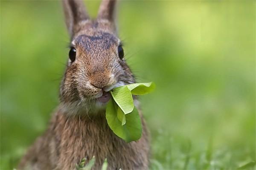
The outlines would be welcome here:
M 116 0 L 102 0 L 99 6 L 98 19 L 109 20 L 114 23 Z

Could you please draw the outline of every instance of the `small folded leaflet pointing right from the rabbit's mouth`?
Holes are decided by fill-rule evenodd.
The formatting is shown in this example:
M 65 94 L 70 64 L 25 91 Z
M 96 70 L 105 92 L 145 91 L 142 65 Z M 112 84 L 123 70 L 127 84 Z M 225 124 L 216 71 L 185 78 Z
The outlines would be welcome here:
M 155 84 L 153 82 L 134 83 L 125 86 L 128 87 L 128 89 L 131 91 L 131 94 L 134 95 L 148 94 L 155 88 Z

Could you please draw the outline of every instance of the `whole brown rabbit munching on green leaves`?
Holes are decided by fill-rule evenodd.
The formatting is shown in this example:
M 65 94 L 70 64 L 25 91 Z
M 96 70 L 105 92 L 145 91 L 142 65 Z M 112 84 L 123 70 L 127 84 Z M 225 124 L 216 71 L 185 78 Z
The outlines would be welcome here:
M 111 89 L 135 83 L 117 36 L 116 0 L 103 0 L 91 20 L 81 0 L 63 0 L 71 37 L 69 59 L 60 85 L 60 104 L 46 132 L 38 137 L 18 169 L 74 170 L 84 157 L 95 156 L 93 170 L 105 159 L 109 170 L 146 170 L 149 164 L 149 131 L 143 125 L 138 141 L 126 143 L 116 136 L 105 118 Z

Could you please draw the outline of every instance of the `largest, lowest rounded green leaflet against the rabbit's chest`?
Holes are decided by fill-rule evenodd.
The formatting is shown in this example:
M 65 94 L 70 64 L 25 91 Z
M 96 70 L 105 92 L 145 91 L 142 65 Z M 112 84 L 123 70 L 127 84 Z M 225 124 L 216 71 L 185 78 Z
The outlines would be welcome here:
M 106 119 L 113 133 L 124 139 L 125 142 L 140 139 L 142 125 L 137 109 L 134 107 L 134 110 L 131 113 L 125 115 L 126 123 L 122 126 L 117 117 L 117 108 L 118 106 L 113 99 L 111 99 L 107 104 Z

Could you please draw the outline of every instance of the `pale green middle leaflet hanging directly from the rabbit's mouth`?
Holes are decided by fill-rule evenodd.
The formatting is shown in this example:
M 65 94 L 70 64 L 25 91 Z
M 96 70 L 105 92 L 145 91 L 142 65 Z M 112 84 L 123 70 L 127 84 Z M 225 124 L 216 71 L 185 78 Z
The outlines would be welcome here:
M 113 99 L 119 108 L 125 113 L 131 113 L 134 109 L 131 91 L 127 86 L 114 88 L 111 92 Z

